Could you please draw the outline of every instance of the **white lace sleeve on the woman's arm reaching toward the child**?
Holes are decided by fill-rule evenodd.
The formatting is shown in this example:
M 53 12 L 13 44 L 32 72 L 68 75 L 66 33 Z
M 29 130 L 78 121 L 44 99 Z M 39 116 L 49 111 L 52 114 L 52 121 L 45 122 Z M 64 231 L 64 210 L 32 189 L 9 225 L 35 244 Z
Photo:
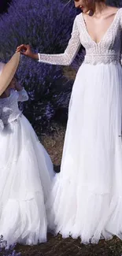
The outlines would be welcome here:
M 80 47 L 79 30 L 74 20 L 72 36 L 64 54 L 39 54 L 39 61 L 53 65 L 70 65 Z

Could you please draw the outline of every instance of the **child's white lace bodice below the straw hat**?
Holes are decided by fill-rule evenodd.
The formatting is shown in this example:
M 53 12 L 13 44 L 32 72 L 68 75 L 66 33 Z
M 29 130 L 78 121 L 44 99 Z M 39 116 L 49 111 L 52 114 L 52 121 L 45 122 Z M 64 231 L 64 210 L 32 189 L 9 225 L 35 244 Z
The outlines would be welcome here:
M 22 91 L 10 91 L 7 98 L 0 98 L 0 129 L 2 130 L 5 125 L 10 124 L 17 120 L 21 111 L 18 107 L 18 102 L 28 100 L 28 94 L 23 89 Z

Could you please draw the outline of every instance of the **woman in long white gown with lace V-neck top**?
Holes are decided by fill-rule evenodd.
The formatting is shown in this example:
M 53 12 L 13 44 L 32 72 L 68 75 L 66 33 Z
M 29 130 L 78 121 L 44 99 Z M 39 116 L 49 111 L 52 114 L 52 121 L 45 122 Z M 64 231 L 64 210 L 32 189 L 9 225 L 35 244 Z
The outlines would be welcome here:
M 61 173 L 47 202 L 48 224 L 63 237 L 98 243 L 113 235 L 122 239 L 122 9 L 98 0 L 75 5 L 83 13 L 64 54 L 33 54 L 28 45 L 17 51 L 70 65 L 80 45 L 86 49 L 72 88 Z

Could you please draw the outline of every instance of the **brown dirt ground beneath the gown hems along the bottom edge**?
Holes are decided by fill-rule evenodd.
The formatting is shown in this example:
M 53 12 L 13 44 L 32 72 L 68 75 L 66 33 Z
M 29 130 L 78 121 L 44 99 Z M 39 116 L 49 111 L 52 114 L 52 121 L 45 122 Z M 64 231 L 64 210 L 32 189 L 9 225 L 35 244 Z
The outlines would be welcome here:
M 34 247 L 17 245 L 22 256 L 120 256 L 122 243 L 119 239 L 104 240 L 95 245 L 83 245 L 80 239 L 62 239 L 48 236 L 48 242 Z

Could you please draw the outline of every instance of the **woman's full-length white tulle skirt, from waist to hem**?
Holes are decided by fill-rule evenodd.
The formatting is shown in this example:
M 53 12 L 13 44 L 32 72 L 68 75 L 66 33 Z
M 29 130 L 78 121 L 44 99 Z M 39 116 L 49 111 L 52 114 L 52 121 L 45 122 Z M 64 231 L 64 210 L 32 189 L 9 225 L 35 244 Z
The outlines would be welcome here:
M 122 68 L 83 64 L 72 88 L 49 229 L 82 243 L 122 239 Z

